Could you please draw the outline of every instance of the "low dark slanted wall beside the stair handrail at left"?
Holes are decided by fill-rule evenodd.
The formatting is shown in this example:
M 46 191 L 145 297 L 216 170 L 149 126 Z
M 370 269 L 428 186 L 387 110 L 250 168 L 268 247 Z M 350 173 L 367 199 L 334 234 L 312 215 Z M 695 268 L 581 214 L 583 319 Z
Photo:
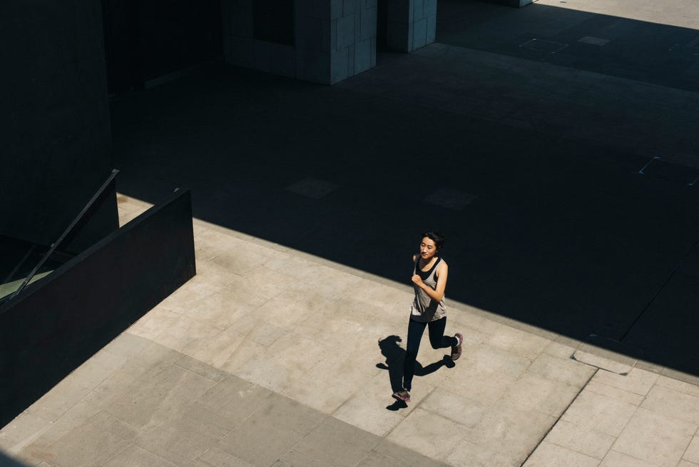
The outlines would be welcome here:
M 0 426 L 195 273 L 180 191 L 1 305 Z

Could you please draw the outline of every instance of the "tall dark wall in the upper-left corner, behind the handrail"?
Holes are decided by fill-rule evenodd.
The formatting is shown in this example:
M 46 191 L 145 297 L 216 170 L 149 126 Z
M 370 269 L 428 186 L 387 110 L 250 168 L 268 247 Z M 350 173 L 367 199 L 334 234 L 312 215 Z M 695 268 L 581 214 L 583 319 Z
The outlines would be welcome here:
M 110 173 L 99 1 L 0 2 L 0 234 L 48 245 Z M 101 204 L 85 246 L 118 228 Z

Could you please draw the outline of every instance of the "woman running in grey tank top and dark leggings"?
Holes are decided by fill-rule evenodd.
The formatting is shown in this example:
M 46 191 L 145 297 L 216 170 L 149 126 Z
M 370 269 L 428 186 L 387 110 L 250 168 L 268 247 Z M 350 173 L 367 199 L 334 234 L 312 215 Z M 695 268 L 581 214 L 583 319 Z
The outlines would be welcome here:
M 451 360 L 461 356 L 461 344 L 464 336 L 456 333 L 454 337 L 444 336 L 447 328 L 447 307 L 444 306 L 444 289 L 447 288 L 447 262 L 437 256 L 444 246 L 446 238 L 435 231 L 422 234 L 419 255 L 413 256 L 415 263 L 412 283 L 415 299 L 410 308 L 408 323 L 408 341 L 403 363 L 403 388 L 393 393 L 399 401 L 410 401 L 412 377 L 415 372 L 415 359 L 420 348 L 424 328 L 429 328 L 429 343 L 432 348 L 451 347 Z

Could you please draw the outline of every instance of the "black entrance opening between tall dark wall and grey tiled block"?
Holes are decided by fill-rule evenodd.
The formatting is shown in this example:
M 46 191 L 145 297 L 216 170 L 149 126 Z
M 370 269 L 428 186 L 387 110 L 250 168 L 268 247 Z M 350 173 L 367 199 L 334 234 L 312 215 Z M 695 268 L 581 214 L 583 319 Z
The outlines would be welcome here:
M 220 0 L 101 0 L 110 93 L 223 56 Z

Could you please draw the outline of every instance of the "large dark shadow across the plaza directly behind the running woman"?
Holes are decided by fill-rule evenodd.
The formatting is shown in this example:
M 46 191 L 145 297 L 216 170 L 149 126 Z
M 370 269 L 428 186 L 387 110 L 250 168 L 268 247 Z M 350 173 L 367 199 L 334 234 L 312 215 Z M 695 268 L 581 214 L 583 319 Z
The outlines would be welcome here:
M 526 24 L 544 38 L 555 18 Z M 623 31 L 627 47 L 643 35 Z M 213 64 L 113 101 L 119 191 L 153 201 L 162 187 L 190 186 L 199 219 L 407 285 L 420 232 L 440 229 L 447 301 L 571 338 L 623 340 L 699 375 L 699 192 L 639 173 L 657 155 L 649 147 L 693 160 L 695 132 L 666 135 L 698 121 L 696 96 L 653 88 L 652 100 L 611 101 L 589 91 L 608 76 L 554 89 L 549 69 L 523 69 L 504 51 L 483 63 L 452 56 L 406 54 L 332 87 Z M 469 89 L 473 76 L 489 87 Z M 512 94 L 513 76 L 531 89 Z M 649 85 L 623 86 L 645 95 Z M 574 110 L 549 105 L 553 91 Z M 479 116 L 492 109 L 504 117 Z M 526 126 L 530 111 L 543 123 Z

